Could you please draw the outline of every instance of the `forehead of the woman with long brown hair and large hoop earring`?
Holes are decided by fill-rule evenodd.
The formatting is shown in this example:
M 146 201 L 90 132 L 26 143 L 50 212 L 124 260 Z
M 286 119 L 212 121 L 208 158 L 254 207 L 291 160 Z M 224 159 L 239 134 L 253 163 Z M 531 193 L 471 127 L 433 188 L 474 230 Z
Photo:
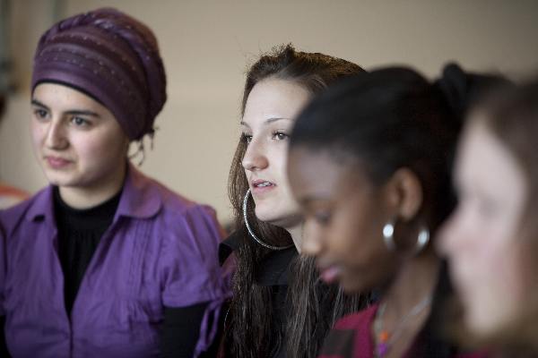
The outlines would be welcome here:
M 310 92 L 296 82 L 260 81 L 248 95 L 243 122 L 252 126 L 269 118 L 295 118 L 310 98 Z

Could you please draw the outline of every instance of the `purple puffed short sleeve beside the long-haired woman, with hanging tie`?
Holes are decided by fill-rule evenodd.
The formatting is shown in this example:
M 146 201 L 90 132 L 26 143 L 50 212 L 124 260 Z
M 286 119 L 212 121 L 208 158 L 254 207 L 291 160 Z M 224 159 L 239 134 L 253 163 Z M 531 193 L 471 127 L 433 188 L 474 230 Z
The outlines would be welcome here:
M 213 209 L 194 206 L 167 227 L 160 259 L 162 304 L 180 308 L 207 303 L 195 347 L 197 357 L 215 339 L 221 304 L 230 296 L 218 258 L 221 226 Z

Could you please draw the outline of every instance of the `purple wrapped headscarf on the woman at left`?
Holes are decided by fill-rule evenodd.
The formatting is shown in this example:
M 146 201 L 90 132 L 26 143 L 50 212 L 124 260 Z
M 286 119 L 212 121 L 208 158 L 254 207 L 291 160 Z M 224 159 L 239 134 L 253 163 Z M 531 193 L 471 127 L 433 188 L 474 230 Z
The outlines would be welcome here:
M 166 74 L 147 26 L 102 8 L 56 23 L 39 39 L 32 91 L 44 81 L 81 90 L 116 117 L 131 140 L 153 132 L 166 102 Z

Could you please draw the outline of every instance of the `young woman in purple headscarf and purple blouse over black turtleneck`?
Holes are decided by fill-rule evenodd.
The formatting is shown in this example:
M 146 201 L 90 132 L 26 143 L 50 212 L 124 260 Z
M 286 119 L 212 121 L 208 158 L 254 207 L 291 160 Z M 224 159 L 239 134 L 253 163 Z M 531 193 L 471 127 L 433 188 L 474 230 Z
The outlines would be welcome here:
M 15 357 L 197 356 L 221 302 L 214 211 L 129 163 L 166 76 L 152 30 L 99 9 L 39 40 L 31 133 L 47 188 L 0 213 L 0 315 Z

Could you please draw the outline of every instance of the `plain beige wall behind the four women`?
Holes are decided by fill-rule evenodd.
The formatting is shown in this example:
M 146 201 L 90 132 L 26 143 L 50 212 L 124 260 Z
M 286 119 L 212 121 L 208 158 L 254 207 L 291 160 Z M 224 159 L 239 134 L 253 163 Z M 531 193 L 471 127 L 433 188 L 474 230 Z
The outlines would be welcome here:
M 13 1 L 13 54 L 26 89 L 30 54 L 53 21 L 51 0 Z M 226 182 L 239 136 L 247 64 L 292 42 L 373 68 L 411 64 L 433 76 L 447 60 L 473 70 L 538 70 L 538 2 L 486 0 L 64 0 L 64 15 L 108 5 L 145 21 L 160 40 L 169 101 L 143 172 L 229 217 Z M 34 192 L 46 182 L 28 139 L 29 94 L 0 126 L 0 177 Z

